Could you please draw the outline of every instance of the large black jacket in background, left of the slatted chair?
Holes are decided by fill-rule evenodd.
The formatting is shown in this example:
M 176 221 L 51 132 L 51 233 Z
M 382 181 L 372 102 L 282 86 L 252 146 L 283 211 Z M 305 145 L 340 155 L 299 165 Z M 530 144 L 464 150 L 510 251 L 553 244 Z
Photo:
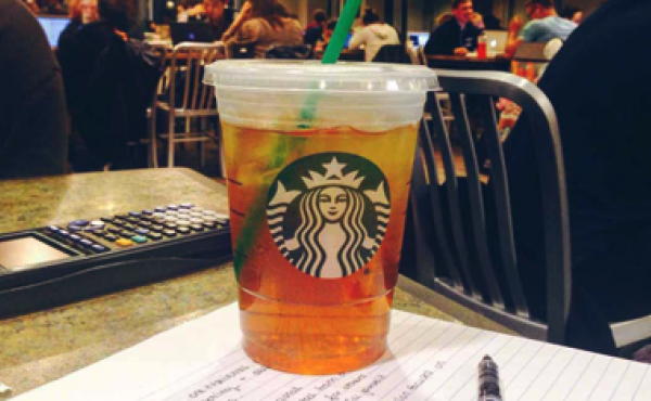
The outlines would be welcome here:
M 143 66 L 139 41 L 125 42 L 105 22 L 88 24 L 60 44 L 79 137 L 97 167 L 124 166 L 128 143 L 146 132 L 146 107 L 159 73 Z

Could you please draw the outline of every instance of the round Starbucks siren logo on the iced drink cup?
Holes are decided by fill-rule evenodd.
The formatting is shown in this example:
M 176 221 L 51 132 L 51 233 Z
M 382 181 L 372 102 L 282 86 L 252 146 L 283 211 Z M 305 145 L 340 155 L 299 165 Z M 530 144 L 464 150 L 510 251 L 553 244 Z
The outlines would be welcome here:
M 370 160 L 322 153 L 286 166 L 269 190 L 273 242 L 296 269 L 320 279 L 353 274 L 384 240 L 388 182 Z

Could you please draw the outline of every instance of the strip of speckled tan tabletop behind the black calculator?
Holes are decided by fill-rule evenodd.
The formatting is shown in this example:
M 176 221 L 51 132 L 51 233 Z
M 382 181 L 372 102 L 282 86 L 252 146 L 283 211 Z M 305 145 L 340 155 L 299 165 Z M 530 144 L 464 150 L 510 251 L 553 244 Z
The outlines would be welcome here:
M 0 181 L 0 233 L 183 202 L 228 211 L 226 186 L 186 168 Z

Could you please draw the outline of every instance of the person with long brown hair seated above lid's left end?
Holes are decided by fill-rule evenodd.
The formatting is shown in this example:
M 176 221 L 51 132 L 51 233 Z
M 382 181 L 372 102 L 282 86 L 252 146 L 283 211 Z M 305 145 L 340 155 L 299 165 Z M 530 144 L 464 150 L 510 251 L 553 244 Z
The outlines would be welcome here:
M 246 7 L 246 4 L 250 4 Z M 282 16 L 276 0 L 251 0 L 227 31 L 229 55 L 235 47 L 250 46 L 256 59 L 264 59 L 272 47 L 303 46 L 303 28 L 295 18 Z

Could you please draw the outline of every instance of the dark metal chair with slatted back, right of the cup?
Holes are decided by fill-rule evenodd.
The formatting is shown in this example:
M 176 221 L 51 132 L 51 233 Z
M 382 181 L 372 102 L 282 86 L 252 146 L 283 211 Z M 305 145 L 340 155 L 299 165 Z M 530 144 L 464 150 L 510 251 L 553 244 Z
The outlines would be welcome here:
M 469 192 L 469 210 L 459 204 L 455 158 L 439 102 L 430 93 L 426 108 L 432 121 L 421 127 L 410 200 L 413 230 L 412 262 L 419 280 L 442 295 L 534 339 L 563 344 L 570 311 L 572 262 L 565 173 L 556 113 L 545 94 L 526 79 L 494 72 L 437 70 L 441 86 L 449 93 L 462 147 Z M 485 202 L 481 190 L 480 165 L 462 94 L 478 98 L 484 140 L 490 159 L 494 214 L 497 220 L 497 251 L 506 281 L 498 283 L 488 246 Z M 509 184 L 498 135 L 495 100 L 507 98 L 522 106 L 534 138 L 541 187 L 547 271 L 547 322 L 532 318 L 524 296 L 515 256 Z M 437 153 L 445 169 L 444 184 L 436 168 Z M 444 205 L 447 207 L 444 209 Z M 462 212 L 472 220 L 472 233 L 464 232 Z M 408 244 L 406 244 L 408 245 Z M 470 272 L 469 253 L 477 256 L 480 283 Z M 442 271 L 447 272 L 445 276 Z M 483 295 L 482 290 L 484 288 Z M 487 293 L 487 294 L 486 294 Z M 507 295 L 510 302 L 505 302 Z M 508 306 L 507 306 L 508 303 Z M 610 324 L 615 345 L 622 348 L 651 337 L 651 315 Z

